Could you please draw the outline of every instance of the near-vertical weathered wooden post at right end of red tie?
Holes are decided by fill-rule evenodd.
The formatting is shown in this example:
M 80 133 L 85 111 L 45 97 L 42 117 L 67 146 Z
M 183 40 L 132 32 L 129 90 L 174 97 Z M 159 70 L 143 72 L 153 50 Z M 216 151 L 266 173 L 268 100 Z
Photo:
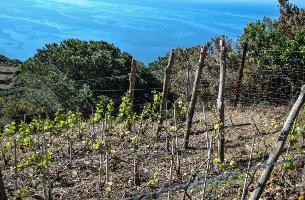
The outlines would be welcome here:
M 218 157 L 221 162 L 224 162 L 224 89 L 226 81 L 226 49 L 225 41 L 220 40 L 220 80 L 219 80 L 219 92 L 217 98 L 218 120 L 222 124 L 219 126 L 219 138 L 218 138 Z

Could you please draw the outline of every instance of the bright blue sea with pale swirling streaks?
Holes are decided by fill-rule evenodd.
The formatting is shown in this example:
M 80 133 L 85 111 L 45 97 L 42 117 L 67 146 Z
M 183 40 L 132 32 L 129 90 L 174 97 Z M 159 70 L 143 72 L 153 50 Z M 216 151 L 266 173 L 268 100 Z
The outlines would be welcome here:
M 294 0 L 299 7 L 305 1 Z M 106 40 L 145 64 L 176 47 L 236 39 L 249 19 L 277 19 L 276 0 L 2 0 L 0 54 L 26 60 L 45 43 Z

